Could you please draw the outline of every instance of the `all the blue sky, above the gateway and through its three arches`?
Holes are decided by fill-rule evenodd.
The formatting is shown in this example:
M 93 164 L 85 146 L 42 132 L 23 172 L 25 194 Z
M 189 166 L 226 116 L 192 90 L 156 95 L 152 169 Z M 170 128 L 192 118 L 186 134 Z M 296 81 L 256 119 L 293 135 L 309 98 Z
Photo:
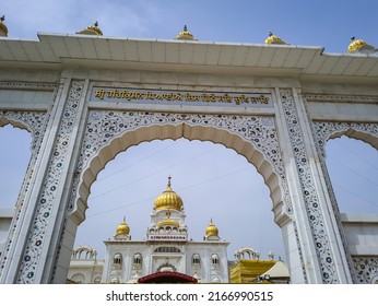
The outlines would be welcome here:
M 37 33 L 73 34 L 98 21 L 104 35 L 114 37 L 170 39 L 187 24 L 204 42 L 263 44 L 272 31 L 292 45 L 321 46 L 326 52 L 346 52 L 351 36 L 378 46 L 378 4 L 373 0 L 10 0 L 2 1 L 0 10 L 9 36 L 23 39 L 37 39 Z M 25 134 L 26 140 L 13 133 Z M 1 208 L 15 201 L 28 162 L 29 137 L 7 127 L 0 129 L 0 141 Z M 15 151 L 8 152 L 12 142 Z M 344 211 L 378 212 L 378 154 L 361 144 L 344 138 L 330 141 L 329 170 Z M 232 242 L 231 255 L 250 246 L 262 258 L 271 249 L 284 257 L 269 190 L 255 167 L 222 145 L 187 140 L 142 143 L 108 163 L 93 185 L 75 245 L 90 244 L 102 255 L 102 242 L 114 235 L 123 215 L 132 238 L 143 239 L 153 200 L 165 190 L 168 175 L 185 202 L 190 237 L 202 239 L 212 217 L 222 238 Z

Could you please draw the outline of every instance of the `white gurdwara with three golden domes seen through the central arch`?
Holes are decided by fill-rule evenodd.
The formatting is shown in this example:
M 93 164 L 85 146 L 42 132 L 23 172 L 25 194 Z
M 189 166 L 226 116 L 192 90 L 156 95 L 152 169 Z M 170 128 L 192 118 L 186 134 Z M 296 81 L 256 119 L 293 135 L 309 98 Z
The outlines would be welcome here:
M 166 190 L 155 199 L 145 240 L 132 240 L 123 220 L 114 238 L 104 242 L 101 282 L 228 282 L 229 243 L 221 239 L 212 222 L 202 242 L 189 240 L 185 217 L 182 199 L 172 189 L 169 177 Z M 85 275 L 85 270 L 78 268 L 80 263 L 71 260 L 69 279 Z

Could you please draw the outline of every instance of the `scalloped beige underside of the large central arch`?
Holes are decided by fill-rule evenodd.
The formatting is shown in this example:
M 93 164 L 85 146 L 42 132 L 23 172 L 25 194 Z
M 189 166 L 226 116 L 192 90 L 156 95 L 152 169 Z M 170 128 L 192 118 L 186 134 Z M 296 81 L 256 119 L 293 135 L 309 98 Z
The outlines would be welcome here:
M 251 163 L 256 167 L 257 172 L 263 177 L 264 183 L 270 190 L 273 207 L 284 202 L 280 189 L 280 179 L 273 165 L 261 151 L 255 148 L 252 142 L 246 141 L 240 136 L 214 127 L 190 126 L 187 123 L 152 125 L 127 131 L 120 137 L 114 138 L 103 146 L 94 157 L 92 157 L 81 175 L 79 199 L 76 202 L 79 211 L 81 211 L 80 208 L 84 208 L 83 210 L 85 211 L 86 201 L 90 196 L 90 188 L 95 181 L 97 174 L 109 161 L 115 158 L 118 153 L 126 151 L 130 146 L 138 145 L 141 142 L 166 139 L 177 140 L 180 138 L 210 141 L 235 150 L 238 154 L 247 158 L 247 161 Z M 84 212 L 81 211 L 79 215 L 84 216 L 83 213 Z M 83 219 L 81 221 L 83 221 Z

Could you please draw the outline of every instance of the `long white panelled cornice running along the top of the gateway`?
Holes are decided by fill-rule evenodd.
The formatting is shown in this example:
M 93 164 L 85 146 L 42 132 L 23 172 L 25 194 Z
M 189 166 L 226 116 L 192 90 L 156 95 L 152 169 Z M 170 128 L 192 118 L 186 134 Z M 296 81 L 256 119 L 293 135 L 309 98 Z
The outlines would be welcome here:
M 323 47 L 38 34 L 2 37 L 1 68 L 139 69 L 287 76 L 378 78 L 375 55 L 326 54 Z

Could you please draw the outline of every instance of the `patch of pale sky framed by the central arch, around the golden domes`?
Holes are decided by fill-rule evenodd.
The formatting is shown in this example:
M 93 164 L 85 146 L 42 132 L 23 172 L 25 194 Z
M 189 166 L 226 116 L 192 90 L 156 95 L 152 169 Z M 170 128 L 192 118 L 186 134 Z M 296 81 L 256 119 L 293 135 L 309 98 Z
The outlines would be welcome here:
M 103 240 L 113 237 L 123 215 L 132 238 L 144 239 L 153 201 L 169 175 L 184 199 L 191 238 L 201 240 L 213 219 L 221 237 L 231 242 L 229 260 L 247 245 L 261 258 L 273 251 L 285 260 L 269 189 L 255 166 L 222 144 L 186 139 L 143 142 L 110 161 L 91 187 L 75 246 L 90 244 L 104 252 Z

